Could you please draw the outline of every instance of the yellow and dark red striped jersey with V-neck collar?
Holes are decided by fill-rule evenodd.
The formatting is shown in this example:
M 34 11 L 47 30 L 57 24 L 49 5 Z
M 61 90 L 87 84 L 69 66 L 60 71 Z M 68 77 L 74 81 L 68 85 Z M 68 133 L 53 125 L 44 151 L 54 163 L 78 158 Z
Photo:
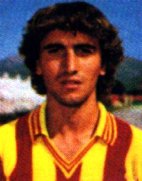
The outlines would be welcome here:
M 142 181 L 142 131 L 99 109 L 94 135 L 70 162 L 49 138 L 45 104 L 1 126 L 0 180 Z

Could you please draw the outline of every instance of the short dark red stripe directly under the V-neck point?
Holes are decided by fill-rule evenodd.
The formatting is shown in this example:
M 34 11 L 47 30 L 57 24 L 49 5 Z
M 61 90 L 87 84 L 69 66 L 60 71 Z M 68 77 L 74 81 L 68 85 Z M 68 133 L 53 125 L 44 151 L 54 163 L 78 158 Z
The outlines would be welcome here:
M 63 174 L 63 172 L 60 170 L 60 168 L 58 166 L 56 166 L 56 174 L 57 174 L 56 181 L 79 181 L 81 166 L 82 166 L 82 164 L 80 164 L 77 167 L 77 169 L 75 170 L 75 172 L 72 174 L 72 176 L 70 178 L 66 178 L 65 175 Z

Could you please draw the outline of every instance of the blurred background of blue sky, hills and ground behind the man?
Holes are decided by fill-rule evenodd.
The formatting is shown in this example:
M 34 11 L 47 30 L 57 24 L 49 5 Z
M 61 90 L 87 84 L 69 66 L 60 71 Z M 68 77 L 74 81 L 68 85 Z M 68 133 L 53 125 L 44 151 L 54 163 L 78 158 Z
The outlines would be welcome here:
M 18 54 L 26 22 L 39 8 L 59 0 L 0 1 L 0 123 L 34 109 L 45 100 L 31 88 L 30 73 Z M 141 0 L 86 0 L 114 24 L 123 40 L 125 61 L 116 72 L 106 104 L 117 116 L 142 128 Z

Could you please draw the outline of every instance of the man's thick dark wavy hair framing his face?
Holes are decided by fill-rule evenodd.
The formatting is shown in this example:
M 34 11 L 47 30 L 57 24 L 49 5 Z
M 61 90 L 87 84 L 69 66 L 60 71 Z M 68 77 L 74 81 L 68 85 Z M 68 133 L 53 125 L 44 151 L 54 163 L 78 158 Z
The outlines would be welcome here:
M 102 53 L 105 76 L 97 83 L 97 98 L 101 100 L 112 89 L 117 65 L 123 60 L 123 48 L 116 28 L 95 6 L 86 2 L 57 3 L 37 11 L 28 21 L 19 52 L 30 69 L 32 86 L 39 94 L 46 94 L 42 76 L 36 74 L 40 54 L 40 42 L 51 31 L 82 32 L 97 38 Z M 101 100 L 102 101 L 102 100 Z

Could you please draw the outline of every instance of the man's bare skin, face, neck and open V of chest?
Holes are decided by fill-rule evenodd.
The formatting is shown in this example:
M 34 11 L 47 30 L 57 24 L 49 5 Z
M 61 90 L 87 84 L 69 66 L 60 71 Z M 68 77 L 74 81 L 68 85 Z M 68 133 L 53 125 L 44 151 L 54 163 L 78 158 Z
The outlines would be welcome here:
M 36 73 L 47 88 L 49 136 L 70 161 L 89 141 L 98 120 L 96 84 L 105 75 L 99 43 L 81 32 L 54 30 L 40 44 Z

